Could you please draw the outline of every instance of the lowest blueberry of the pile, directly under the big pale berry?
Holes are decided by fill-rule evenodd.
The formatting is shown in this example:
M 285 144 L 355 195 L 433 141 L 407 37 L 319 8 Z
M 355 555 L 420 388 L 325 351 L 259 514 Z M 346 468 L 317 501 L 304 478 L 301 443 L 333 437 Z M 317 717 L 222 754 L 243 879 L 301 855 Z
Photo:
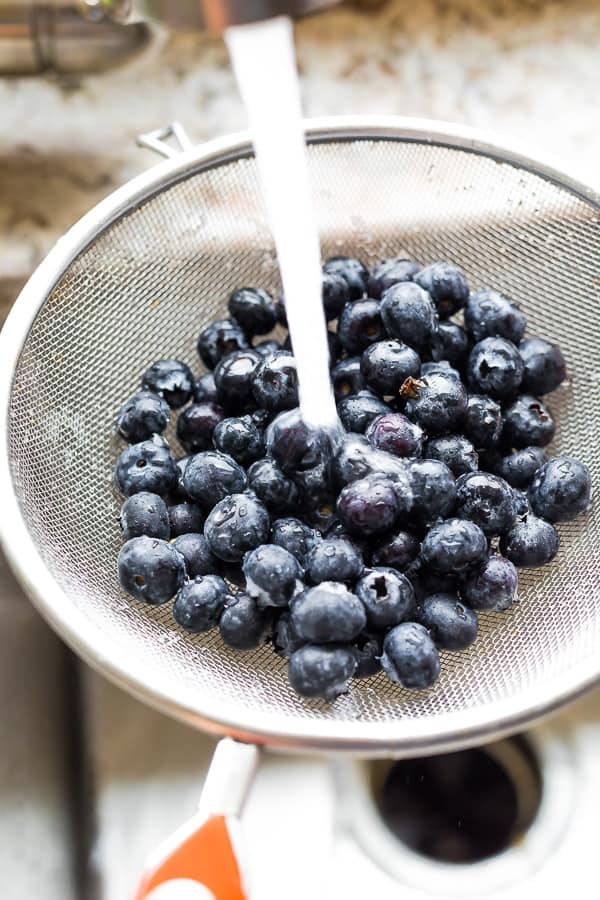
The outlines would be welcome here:
M 288 677 L 301 697 L 335 700 L 348 691 L 356 664 L 350 647 L 307 644 L 291 655 Z

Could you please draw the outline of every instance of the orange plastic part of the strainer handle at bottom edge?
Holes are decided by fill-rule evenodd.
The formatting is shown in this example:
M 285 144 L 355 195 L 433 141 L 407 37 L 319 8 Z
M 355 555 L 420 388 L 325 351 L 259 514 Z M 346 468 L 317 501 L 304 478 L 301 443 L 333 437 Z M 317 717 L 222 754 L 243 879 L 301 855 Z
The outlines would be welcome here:
M 145 900 L 169 881 L 189 879 L 207 887 L 216 900 L 248 900 L 231 838 L 228 816 L 192 819 L 159 848 L 142 876 L 136 900 Z

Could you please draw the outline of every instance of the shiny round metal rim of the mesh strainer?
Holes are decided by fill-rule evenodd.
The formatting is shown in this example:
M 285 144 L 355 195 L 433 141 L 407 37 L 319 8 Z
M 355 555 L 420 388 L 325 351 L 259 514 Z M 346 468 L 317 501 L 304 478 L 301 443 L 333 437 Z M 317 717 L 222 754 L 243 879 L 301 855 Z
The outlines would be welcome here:
M 600 208 L 596 191 L 557 166 L 531 157 L 515 144 L 500 142 L 493 135 L 465 126 L 426 119 L 352 116 L 308 120 L 306 130 L 310 142 L 402 140 L 482 154 L 541 175 Z M 143 664 L 99 633 L 52 577 L 28 532 L 11 476 L 8 414 L 13 373 L 38 311 L 78 254 L 121 215 L 190 171 L 251 154 L 250 135 L 242 132 L 187 150 L 134 178 L 60 238 L 15 301 L 0 334 L 0 421 L 4 425 L 4 439 L 0 442 L 0 542 L 8 561 L 38 611 L 87 663 L 137 698 L 215 734 L 281 748 L 415 755 L 455 749 L 514 731 L 592 687 L 600 680 L 600 666 L 592 660 L 584 661 L 567 676 L 552 679 L 543 688 L 533 686 L 516 699 L 492 703 L 489 713 L 481 708 L 465 709 L 425 721 L 407 718 L 377 723 L 316 718 L 294 721 L 282 717 L 278 723 L 273 715 L 240 711 L 231 719 L 216 702 L 198 703 L 190 689 L 182 688 L 176 697 L 165 691 L 159 678 L 144 671 Z

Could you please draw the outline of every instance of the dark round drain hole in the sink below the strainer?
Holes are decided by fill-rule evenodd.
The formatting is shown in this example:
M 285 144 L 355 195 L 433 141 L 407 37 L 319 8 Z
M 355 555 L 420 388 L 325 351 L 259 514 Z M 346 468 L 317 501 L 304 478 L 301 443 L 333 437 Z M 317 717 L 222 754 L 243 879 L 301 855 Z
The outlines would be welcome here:
M 472 863 L 506 850 L 539 808 L 537 760 L 523 738 L 388 764 L 375 775 L 387 827 L 412 850 Z

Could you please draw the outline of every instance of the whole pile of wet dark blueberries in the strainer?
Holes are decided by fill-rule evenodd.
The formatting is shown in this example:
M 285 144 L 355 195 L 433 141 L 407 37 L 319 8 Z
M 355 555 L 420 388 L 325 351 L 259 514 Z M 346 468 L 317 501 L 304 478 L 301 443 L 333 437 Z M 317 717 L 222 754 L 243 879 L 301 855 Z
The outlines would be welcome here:
M 187 631 L 272 643 L 302 696 L 381 668 L 427 688 L 438 650 L 468 647 L 478 611 L 507 609 L 516 567 L 550 562 L 555 523 L 590 505 L 586 466 L 543 449 L 555 425 L 540 397 L 565 361 L 449 262 L 369 272 L 334 257 L 323 306 L 339 434 L 301 419 L 290 338 L 261 337 L 285 326 L 285 303 L 260 289 L 200 333 L 206 374 L 175 359 L 144 373 L 117 419 L 120 583 L 174 600 Z M 161 435 L 180 409 L 177 458 Z

